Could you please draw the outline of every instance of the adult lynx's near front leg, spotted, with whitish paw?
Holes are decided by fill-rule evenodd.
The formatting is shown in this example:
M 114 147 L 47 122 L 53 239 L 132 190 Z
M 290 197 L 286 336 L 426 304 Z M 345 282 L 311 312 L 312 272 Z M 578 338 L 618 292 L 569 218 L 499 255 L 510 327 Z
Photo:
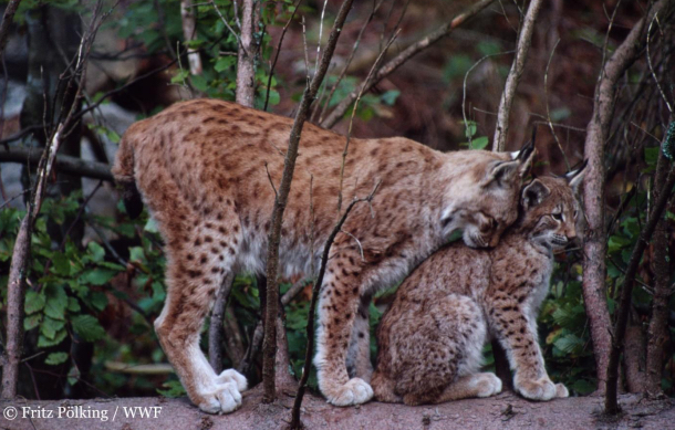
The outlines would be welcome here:
M 373 397 L 373 389 L 361 378 L 349 378 L 346 356 L 360 302 L 360 280 L 343 258 L 329 263 L 319 300 L 316 333 L 319 388 L 335 406 L 360 405 Z M 349 269 L 347 269 L 349 266 Z

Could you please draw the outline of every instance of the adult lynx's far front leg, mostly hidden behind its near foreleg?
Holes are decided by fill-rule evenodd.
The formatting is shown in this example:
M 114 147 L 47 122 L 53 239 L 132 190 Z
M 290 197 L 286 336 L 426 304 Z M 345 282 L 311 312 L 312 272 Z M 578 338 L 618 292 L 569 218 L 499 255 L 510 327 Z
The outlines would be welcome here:
M 346 368 L 350 377 L 371 381 L 373 364 L 371 363 L 371 326 L 368 324 L 368 307 L 372 296 L 364 295 L 359 303 L 359 312 L 350 338 Z

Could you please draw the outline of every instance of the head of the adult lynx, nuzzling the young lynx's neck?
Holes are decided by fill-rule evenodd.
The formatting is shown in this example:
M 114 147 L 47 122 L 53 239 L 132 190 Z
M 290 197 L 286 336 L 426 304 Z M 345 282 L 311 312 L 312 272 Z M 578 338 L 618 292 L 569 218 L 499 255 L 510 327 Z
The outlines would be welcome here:
M 528 141 L 516 153 L 459 154 L 461 166 L 453 168 L 463 177 L 448 190 L 453 204 L 442 214 L 443 233 L 463 229 L 468 247 L 495 247 L 518 219 L 520 188 L 534 155 L 534 143 Z

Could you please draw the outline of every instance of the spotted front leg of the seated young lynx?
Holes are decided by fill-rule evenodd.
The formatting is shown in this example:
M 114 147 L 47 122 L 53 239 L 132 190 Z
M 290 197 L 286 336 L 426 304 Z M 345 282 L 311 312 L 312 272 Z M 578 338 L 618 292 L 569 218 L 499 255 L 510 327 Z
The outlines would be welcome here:
M 489 312 L 490 325 L 506 349 L 511 369 L 516 370 L 513 388 L 531 400 L 567 397 L 567 388 L 551 381 L 533 332 L 536 324 L 526 317 L 522 304 L 501 301 Z

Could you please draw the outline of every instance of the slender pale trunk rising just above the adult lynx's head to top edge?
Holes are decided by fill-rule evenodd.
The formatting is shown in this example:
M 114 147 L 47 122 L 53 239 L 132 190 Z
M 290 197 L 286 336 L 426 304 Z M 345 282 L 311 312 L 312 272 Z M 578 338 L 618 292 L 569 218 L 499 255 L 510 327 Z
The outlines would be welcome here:
M 499 102 L 499 115 L 495 126 L 495 137 L 492 139 L 492 150 L 505 150 L 506 138 L 509 130 L 509 116 L 511 114 L 511 105 L 516 97 L 516 90 L 520 82 L 520 76 L 525 70 L 525 62 L 528 57 L 528 52 L 532 45 L 532 32 L 534 31 L 534 22 L 541 9 L 543 0 L 531 0 L 528 11 L 525 15 L 520 34 L 518 35 L 518 46 L 516 49 L 516 57 L 507 76 L 507 82 Z

